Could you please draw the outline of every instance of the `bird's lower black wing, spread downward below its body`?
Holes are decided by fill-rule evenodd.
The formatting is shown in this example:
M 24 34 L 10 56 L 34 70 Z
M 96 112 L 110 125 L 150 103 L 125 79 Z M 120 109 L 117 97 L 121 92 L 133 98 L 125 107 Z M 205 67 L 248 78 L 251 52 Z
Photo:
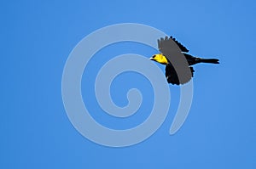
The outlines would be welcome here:
M 190 81 L 190 79 L 193 77 L 193 73 L 195 72 L 195 70 L 193 69 L 192 66 L 189 66 L 190 68 L 190 71 L 191 71 L 191 74 L 183 74 L 183 82 L 180 82 L 178 80 L 178 76 L 177 76 L 177 72 L 176 70 L 174 69 L 174 67 L 172 66 L 172 64 L 168 64 L 166 65 L 166 80 L 168 83 L 172 83 L 172 84 L 176 84 L 176 85 L 179 85 L 179 84 L 184 84 L 184 83 L 187 83 Z

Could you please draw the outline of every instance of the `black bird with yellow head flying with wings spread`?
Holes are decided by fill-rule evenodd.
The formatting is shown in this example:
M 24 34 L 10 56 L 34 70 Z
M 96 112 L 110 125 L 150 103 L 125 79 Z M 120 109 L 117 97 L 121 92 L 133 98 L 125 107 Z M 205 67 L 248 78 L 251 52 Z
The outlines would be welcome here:
M 189 49 L 172 36 L 158 39 L 158 48 L 160 54 L 154 54 L 149 59 L 166 65 L 166 80 L 173 85 L 182 85 L 191 80 L 195 72 L 192 65 L 219 64 L 218 59 L 199 58 L 189 54 Z M 177 74 L 177 72 L 179 73 Z

